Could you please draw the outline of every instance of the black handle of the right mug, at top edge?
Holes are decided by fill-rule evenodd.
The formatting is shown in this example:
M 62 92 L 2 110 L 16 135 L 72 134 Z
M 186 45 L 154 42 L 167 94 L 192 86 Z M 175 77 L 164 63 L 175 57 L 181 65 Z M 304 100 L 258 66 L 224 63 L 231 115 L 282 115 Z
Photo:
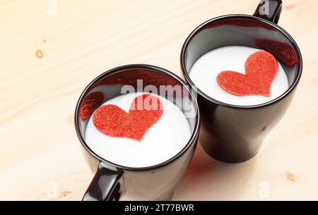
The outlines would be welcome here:
M 261 0 L 257 6 L 253 16 L 264 18 L 272 23 L 277 24 L 281 16 L 281 8 L 283 2 L 281 0 Z

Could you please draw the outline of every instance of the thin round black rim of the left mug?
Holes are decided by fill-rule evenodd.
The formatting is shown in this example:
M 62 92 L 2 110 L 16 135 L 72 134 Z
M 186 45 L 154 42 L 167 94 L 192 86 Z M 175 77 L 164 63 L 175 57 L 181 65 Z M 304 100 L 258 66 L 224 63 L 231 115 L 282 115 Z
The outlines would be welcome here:
M 194 109 L 196 109 L 196 122 L 194 123 L 194 130 L 192 132 L 191 137 L 189 138 L 188 142 L 186 145 L 184 145 L 184 147 L 174 156 L 172 156 L 170 159 L 167 159 L 166 161 L 163 161 L 159 164 L 155 164 L 152 166 L 145 166 L 145 167 L 131 167 L 131 166 L 122 166 L 120 164 L 115 164 L 112 161 L 108 161 L 107 159 L 102 158 L 102 156 L 99 156 L 98 154 L 96 154 L 95 152 L 93 152 L 92 149 L 90 149 L 90 147 L 88 147 L 88 145 L 86 144 L 83 136 L 81 135 L 81 131 L 79 128 L 79 123 L 78 123 L 78 114 L 79 114 L 79 109 L 80 106 L 84 100 L 84 98 L 86 97 L 86 95 L 88 94 L 89 90 L 91 89 L 91 87 L 93 87 L 93 85 L 95 85 L 96 82 L 102 80 L 102 78 L 106 78 L 107 76 L 110 76 L 114 73 L 120 73 L 124 70 L 129 70 L 129 69 L 148 69 L 148 70 L 153 70 L 154 72 L 158 72 L 158 73 L 163 73 L 165 75 L 170 76 L 171 78 L 177 80 L 179 83 L 181 83 L 184 87 L 186 87 L 187 91 L 189 92 L 189 94 L 192 97 L 192 104 L 194 105 Z M 153 66 L 153 65 L 148 65 L 148 64 L 127 64 L 127 65 L 123 65 L 123 66 L 117 66 L 115 68 L 112 68 L 110 70 L 105 71 L 104 73 L 98 75 L 96 78 L 94 78 L 83 90 L 83 92 L 81 92 L 81 96 L 78 99 L 78 102 L 76 104 L 76 109 L 75 109 L 75 115 L 74 115 L 74 123 L 75 123 L 75 130 L 76 130 L 76 135 L 78 137 L 78 139 L 81 142 L 81 145 L 83 145 L 83 147 L 86 149 L 86 151 L 95 157 L 95 159 L 98 159 L 99 161 L 104 162 L 105 164 L 109 164 L 110 166 L 114 166 L 115 168 L 119 168 L 122 170 L 127 170 L 127 171 L 148 171 L 148 170 L 152 170 L 155 168 L 160 168 L 162 166 L 166 166 L 167 164 L 170 164 L 172 161 L 175 161 L 176 159 L 179 158 L 179 156 L 182 156 L 182 154 L 184 154 L 184 152 L 187 151 L 187 149 L 189 149 L 189 147 L 193 144 L 195 144 L 196 142 L 196 137 L 199 135 L 199 128 L 200 128 L 200 113 L 199 113 L 199 106 L 197 104 L 196 101 L 196 97 L 194 97 L 194 94 L 192 93 L 192 91 L 190 90 L 189 85 L 187 84 L 187 82 L 185 82 L 184 80 L 182 80 L 182 78 L 179 78 L 178 75 L 176 75 L 175 73 L 170 72 L 169 70 L 166 70 L 164 68 L 160 68 L 158 66 Z

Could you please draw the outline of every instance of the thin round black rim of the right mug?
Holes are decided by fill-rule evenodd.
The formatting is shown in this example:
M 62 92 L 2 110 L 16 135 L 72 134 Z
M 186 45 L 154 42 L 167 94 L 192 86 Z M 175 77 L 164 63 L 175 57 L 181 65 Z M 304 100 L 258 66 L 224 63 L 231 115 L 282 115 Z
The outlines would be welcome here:
M 216 99 L 213 99 L 212 97 L 209 97 L 207 94 L 202 92 L 199 87 L 196 87 L 194 82 L 192 82 L 191 78 L 189 77 L 189 73 L 187 73 L 187 69 L 185 68 L 185 51 L 187 50 L 187 47 L 189 45 L 189 42 L 192 41 L 193 37 L 196 36 L 199 32 L 201 32 L 201 29 L 206 27 L 206 25 L 215 23 L 216 21 L 219 20 L 225 20 L 225 19 L 230 19 L 230 18 L 243 18 L 243 19 L 249 19 L 249 20 L 256 20 L 259 21 L 260 23 L 265 23 L 266 25 L 270 25 L 274 29 L 278 30 L 281 32 L 289 41 L 291 44 L 293 44 L 293 48 L 295 49 L 295 52 L 298 56 L 298 74 L 295 77 L 295 80 L 293 81 L 292 85 L 288 87 L 288 90 L 283 92 L 279 97 L 276 97 L 275 99 L 272 99 L 269 102 L 261 103 L 261 104 L 255 104 L 255 105 L 247 105 L 247 106 L 242 106 L 242 105 L 235 105 L 235 104 L 228 104 L 225 102 L 220 102 Z M 206 20 L 204 23 L 201 23 L 199 26 L 197 26 L 187 37 L 187 39 L 184 41 L 184 44 L 182 45 L 181 53 L 180 53 L 180 64 L 181 64 L 181 70 L 184 75 L 185 80 L 187 80 L 188 84 L 196 90 L 196 92 L 201 96 L 204 97 L 204 99 L 207 99 L 209 102 L 213 102 L 214 104 L 218 104 L 220 106 L 225 106 L 228 108 L 234 108 L 234 109 L 258 109 L 264 106 L 269 106 L 271 104 L 275 104 L 276 102 L 281 101 L 281 99 L 285 98 L 290 92 L 294 90 L 294 88 L 298 85 L 298 82 L 300 80 L 300 77 L 302 75 L 302 55 L 300 53 L 300 49 L 298 47 L 298 44 L 295 42 L 293 37 L 291 37 L 287 31 L 283 29 L 283 27 L 276 25 L 275 23 L 272 23 L 269 20 L 266 20 L 264 18 L 259 18 L 257 16 L 251 16 L 251 15 L 246 15 L 246 14 L 229 14 L 229 15 L 224 15 L 224 16 L 218 16 L 216 18 L 211 18 L 210 20 Z M 193 87 L 194 86 L 194 87 Z

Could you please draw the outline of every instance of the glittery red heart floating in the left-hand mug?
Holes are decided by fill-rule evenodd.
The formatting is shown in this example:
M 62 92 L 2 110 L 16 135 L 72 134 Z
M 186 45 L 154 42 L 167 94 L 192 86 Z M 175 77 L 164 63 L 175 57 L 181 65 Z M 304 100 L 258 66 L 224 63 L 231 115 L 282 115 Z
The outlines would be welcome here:
M 128 113 L 113 104 L 100 106 L 93 115 L 93 123 L 104 135 L 141 141 L 162 114 L 160 99 L 151 94 L 142 94 L 131 102 Z

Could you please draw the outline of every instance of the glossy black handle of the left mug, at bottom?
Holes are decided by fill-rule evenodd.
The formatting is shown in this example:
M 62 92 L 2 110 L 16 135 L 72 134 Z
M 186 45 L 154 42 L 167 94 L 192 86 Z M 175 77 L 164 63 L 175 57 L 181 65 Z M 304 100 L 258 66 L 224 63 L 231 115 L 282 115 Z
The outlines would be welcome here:
M 124 195 L 122 177 L 122 170 L 110 169 L 107 164 L 100 161 L 82 201 L 118 201 Z

